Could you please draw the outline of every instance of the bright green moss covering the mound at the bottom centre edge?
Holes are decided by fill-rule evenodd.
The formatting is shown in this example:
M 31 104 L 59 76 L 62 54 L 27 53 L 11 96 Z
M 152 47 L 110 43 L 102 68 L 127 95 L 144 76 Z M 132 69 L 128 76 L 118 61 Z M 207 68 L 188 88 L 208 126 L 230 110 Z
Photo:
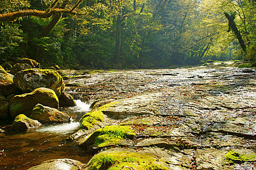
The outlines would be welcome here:
M 156 159 L 145 153 L 99 153 L 90 161 L 90 170 L 168 170 L 155 163 Z

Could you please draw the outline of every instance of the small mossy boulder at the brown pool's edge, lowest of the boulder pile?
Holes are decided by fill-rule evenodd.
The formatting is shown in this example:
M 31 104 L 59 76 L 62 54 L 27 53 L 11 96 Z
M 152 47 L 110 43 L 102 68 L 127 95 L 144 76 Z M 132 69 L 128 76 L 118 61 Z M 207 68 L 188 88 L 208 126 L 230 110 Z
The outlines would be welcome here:
M 42 124 L 37 120 L 30 119 L 25 115 L 18 115 L 12 124 L 11 130 L 26 130 L 28 128 L 38 127 Z

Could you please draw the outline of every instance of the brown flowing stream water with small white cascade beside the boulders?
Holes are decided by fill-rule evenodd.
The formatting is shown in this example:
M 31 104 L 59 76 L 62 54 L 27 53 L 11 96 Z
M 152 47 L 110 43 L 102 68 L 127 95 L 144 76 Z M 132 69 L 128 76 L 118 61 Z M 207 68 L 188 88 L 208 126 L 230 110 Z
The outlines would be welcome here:
M 0 170 L 27 170 L 43 161 L 57 158 L 87 162 L 91 155 L 73 143 L 63 142 L 79 128 L 81 115 L 90 110 L 89 104 L 80 100 L 76 102 L 77 106 L 64 110 L 72 117 L 70 123 L 31 128 L 22 133 L 7 131 L 0 138 Z

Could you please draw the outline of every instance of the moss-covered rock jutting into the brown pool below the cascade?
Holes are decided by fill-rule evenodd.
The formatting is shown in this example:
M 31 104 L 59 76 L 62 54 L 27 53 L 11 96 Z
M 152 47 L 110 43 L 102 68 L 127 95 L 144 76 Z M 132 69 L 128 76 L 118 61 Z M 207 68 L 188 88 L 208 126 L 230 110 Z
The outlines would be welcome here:
M 119 145 L 120 141 L 126 138 L 132 139 L 135 134 L 129 126 L 105 126 L 94 131 L 81 147 L 84 148 L 103 148 L 112 145 Z

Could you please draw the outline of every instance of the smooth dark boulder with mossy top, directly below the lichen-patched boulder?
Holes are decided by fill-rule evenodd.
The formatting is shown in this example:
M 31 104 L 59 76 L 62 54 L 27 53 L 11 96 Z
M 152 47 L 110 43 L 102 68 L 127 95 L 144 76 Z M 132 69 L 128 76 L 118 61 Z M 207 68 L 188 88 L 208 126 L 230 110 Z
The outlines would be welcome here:
M 31 93 L 14 96 L 10 101 L 10 115 L 12 118 L 19 114 L 30 117 L 33 108 L 38 103 L 56 109 L 59 108 L 59 99 L 55 92 L 49 88 L 40 87 Z

